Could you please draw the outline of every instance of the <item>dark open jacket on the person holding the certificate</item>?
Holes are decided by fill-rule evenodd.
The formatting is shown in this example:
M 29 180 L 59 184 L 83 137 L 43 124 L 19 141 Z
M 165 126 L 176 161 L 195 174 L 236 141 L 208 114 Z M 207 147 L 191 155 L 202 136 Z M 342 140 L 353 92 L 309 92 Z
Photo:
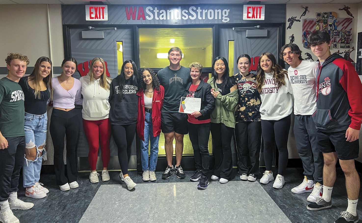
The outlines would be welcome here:
M 189 88 L 191 86 L 192 82 L 188 83 L 185 90 L 186 97 L 189 93 Z M 200 78 L 199 86 L 197 86 L 196 92 L 195 92 L 195 98 L 201 98 L 201 116 L 197 117 L 199 121 L 210 119 L 210 114 L 212 111 L 214 111 L 215 108 L 215 98 L 211 94 L 211 85 L 204 82 Z

